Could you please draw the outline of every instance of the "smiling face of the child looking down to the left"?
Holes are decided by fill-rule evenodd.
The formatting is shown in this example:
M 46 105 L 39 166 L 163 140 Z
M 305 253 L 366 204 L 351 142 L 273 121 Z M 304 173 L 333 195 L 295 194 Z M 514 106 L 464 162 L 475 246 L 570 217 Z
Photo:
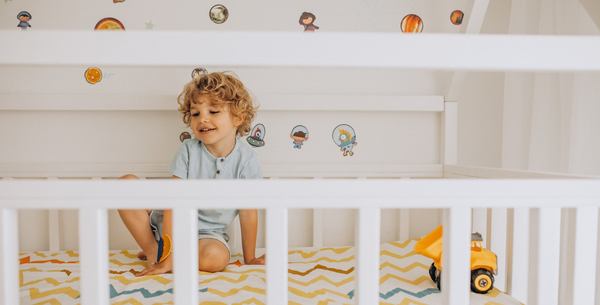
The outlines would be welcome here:
M 216 157 L 229 154 L 235 145 L 235 135 L 240 120 L 234 117 L 227 105 L 216 105 L 211 98 L 200 95 L 190 107 L 190 127 L 196 139 Z

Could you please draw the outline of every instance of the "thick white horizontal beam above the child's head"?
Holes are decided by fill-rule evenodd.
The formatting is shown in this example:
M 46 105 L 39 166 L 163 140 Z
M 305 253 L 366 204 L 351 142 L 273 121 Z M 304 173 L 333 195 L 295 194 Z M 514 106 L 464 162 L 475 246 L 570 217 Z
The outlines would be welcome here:
M 1 48 L 0 65 L 195 66 L 201 60 L 207 66 L 235 67 L 600 70 L 600 37 L 590 35 L 0 31 L 0 41 L 28 46 Z M 206 41 L 212 42 L 210 48 L 204 47 Z M 180 45 L 188 47 L 173 47 Z M 306 52 L 307 45 L 326 51 Z

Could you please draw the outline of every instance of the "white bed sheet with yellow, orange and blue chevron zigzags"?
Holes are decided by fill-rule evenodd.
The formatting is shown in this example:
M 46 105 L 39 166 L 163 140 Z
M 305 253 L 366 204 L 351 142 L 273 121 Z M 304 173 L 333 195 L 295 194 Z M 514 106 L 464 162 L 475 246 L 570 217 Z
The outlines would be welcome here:
M 390 242 L 381 247 L 380 305 L 442 304 L 430 280 L 431 261 L 415 254 L 415 241 Z M 79 304 L 79 257 L 75 251 L 20 254 L 21 304 Z M 173 275 L 136 278 L 144 262 L 136 251 L 111 251 L 110 298 L 113 305 L 173 304 Z M 201 273 L 202 305 L 265 304 L 264 266 L 242 265 L 239 256 L 224 272 Z M 354 249 L 352 247 L 289 251 L 289 304 L 354 304 Z M 471 304 L 521 304 L 494 289 L 471 294 Z

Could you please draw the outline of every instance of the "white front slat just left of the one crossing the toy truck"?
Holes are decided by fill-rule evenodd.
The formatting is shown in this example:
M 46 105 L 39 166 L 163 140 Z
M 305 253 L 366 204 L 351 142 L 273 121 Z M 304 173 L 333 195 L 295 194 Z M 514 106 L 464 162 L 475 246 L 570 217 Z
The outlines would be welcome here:
M 360 208 L 356 239 L 357 304 L 379 304 L 381 210 Z

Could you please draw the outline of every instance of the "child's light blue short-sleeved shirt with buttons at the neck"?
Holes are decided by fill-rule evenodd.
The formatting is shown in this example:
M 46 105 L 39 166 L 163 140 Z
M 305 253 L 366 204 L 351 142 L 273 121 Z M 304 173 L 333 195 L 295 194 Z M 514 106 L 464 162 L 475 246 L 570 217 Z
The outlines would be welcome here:
M 236 139 L 233 151 L 221 158 L 213 156 L 197 139 L 185 140 L 171 163 L 171 174 L 181 179 L 262 178 L 256 152 L 240 139 Z M 237 214 L 238 210 L 232 209 L 198 210 L 198 234 L 217 233 L 228 240 L 225 231 Z

